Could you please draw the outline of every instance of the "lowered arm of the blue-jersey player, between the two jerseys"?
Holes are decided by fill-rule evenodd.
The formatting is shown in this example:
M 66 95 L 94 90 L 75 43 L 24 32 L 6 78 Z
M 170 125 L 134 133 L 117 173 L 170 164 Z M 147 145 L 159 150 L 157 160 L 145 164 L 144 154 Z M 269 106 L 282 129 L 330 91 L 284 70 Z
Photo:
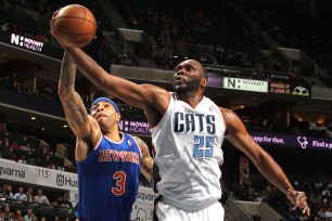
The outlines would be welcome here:
M 149 147 L 144 141 L 138 136 L 133 136 L 137 144 L 139 145 L 142 154 L 141 160 L 141 173 L 146 178 L 149 182 L 152 182 L 153 179 L 153 158 L 150 155 Z

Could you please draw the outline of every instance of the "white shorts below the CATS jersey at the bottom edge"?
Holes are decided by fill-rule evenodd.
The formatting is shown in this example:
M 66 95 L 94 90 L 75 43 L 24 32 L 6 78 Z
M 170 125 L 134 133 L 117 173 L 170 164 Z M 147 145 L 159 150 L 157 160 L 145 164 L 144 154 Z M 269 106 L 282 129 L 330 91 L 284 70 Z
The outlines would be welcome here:
M 195 212 L 177 209 L 159 200 L 155 205 L 159 221 L 224 221 L 225 210 L 219 202 Z

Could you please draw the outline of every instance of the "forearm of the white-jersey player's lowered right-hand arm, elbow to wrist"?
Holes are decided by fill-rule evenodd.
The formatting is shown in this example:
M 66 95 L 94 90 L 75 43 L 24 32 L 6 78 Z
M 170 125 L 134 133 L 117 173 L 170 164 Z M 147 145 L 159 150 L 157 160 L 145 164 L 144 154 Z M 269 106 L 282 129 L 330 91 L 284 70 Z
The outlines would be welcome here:
M 288 190 L 293 190 L 293 186 L 285 173 L 269 154 L 263 154 L 259 165 L 256 166 L 261 174 L 284 194 L 286 194 Z

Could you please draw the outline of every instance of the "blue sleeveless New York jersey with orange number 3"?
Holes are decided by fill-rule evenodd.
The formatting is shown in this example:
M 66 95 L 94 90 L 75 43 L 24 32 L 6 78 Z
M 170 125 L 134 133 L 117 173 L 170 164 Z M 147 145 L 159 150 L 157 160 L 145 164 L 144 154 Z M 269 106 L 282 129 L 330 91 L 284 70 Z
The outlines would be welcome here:
M 78 166 L 78 218 L 82 221 L 130 220 L 136 202 L 141 153 L 132 136 L 120 142 L 102 135 Z

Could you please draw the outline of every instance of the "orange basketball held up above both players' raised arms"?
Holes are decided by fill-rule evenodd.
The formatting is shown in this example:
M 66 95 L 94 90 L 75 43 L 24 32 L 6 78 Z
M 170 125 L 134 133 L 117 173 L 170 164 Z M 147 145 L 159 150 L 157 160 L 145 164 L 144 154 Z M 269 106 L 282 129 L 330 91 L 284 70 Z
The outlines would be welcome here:
M 97 24 L 90 10 L 79 4 L 69 4 L 60 9 L 52 27 L 60 44 L 82 48 L 94 38 Z

